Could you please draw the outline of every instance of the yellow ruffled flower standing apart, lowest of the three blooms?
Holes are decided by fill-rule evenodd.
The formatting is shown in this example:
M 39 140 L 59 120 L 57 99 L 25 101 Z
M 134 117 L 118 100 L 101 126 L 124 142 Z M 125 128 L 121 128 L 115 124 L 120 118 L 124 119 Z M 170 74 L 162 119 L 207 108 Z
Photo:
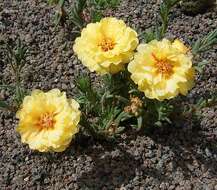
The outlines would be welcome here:
M 79 104 L 58 89 L 34 90 L 17 112 L 17 131 L 23 143 L 40 152 L 62 152 L 78 132 Z

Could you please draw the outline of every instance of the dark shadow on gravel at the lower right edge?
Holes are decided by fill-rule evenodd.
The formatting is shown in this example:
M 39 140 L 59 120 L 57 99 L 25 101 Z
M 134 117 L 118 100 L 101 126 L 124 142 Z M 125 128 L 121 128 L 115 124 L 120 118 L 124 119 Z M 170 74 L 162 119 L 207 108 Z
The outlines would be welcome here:
M 189 179 L 197 175 L 194 166 L 200 168 L 204 166 L 203 171 L 209 172 L 210 176 L 217 175 L 217 138 L 205 134 L 198 128 L 194 129 L 176 129 L 167 128 L 156 131 L 151 138 L 162 146 L 168 146 L 174 153 L 174 162 L 183 171 L 184 177 Z

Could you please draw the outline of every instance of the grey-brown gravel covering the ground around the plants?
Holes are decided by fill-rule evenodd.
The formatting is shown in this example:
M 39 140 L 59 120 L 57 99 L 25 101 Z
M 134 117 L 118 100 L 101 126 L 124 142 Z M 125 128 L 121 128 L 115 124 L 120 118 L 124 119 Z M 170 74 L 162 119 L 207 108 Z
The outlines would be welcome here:
M 144 30 L 154 24 L 158 8 L 157 0 L 123 0 L 105 14 Z M 73 54 L 68 32 L 55 32 L 54 13 L 43 0 L 0 0 L 0 36 L 14 40 L 20 35 L 29 46 L 26 88 L 59 88 L 72 97 L 74 75 L 87 70 Z M 191 17 L 176 8 L 167 37 L 190 45 L 215 28 L 216 11 Z M 201 57 L 210 64 L 198 76 L 190 102 L 217 90 L 217 47 Z M 9 65 L 0 64 L 0 70 L 0 80 L 11 83 Z M 0 91 L 1 98 L 8 96 Z M 200 126 L 194 128 L 186 122 L 149 136 L 126 132 L 114 145 L 89 139 L 59 154 L 41 154 L 21 144 L 16 123 L 14 114 L 0 112 L 0 189 L 217 190 L 217 106 L 203 109 Z

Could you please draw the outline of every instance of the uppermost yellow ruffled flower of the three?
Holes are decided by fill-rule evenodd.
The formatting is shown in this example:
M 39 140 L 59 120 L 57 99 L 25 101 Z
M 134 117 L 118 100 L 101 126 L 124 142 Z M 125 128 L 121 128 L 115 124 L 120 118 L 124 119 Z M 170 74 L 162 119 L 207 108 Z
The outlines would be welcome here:
M 108 17 L 88 24 L 75 40 L 74 52 L 91 72 L 117 73 L 124 69 L 138 45 L 137 33 L 124 21 Z

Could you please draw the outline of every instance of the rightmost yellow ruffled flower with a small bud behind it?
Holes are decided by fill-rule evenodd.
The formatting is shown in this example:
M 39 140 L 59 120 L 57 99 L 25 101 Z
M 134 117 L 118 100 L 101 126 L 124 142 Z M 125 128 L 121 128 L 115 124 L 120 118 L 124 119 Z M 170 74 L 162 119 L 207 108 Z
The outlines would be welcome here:
M 150 99 L 164 100 L 186 95 L 194 85 L 192 55 L 179 40 L 153 40 L 137 48 L 128 70 L 140 91 Z

